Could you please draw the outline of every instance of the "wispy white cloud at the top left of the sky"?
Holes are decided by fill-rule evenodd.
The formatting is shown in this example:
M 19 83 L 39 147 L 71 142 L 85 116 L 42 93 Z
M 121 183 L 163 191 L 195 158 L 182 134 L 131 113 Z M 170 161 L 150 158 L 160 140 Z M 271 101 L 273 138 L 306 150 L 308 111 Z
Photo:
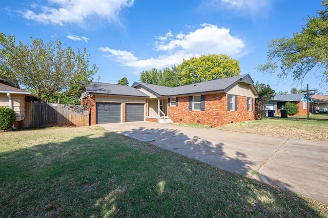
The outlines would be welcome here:
M 33 4 L 32 10 L 19 11 L 26 19 L 45 24 L 81 24 L 91 16 L 106 18 L 108 21 L 117 19 L 118 12 L 131 7 L 134 0 L 48 0 L 47 6 Z M 35 12 L 37 9 L 40 12 Z

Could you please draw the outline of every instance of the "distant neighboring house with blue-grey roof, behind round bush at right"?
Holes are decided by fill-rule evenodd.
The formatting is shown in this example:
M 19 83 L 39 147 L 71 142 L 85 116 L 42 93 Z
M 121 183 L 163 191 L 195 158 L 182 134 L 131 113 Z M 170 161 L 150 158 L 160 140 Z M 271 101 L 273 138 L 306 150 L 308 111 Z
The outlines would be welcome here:
M 312 102 L 312 98 L 309 96 L 308 102 L 308 95 L 304 93 L 276 95 L 267 107 L 270 104 L 273 105 L 271 110 L 274 110 L 275 114 L 278 114 L 286 102 L 292 102 L 298 106 L 298 113 L 296 115 L 306 115 L 308 114 L 308 107 Z

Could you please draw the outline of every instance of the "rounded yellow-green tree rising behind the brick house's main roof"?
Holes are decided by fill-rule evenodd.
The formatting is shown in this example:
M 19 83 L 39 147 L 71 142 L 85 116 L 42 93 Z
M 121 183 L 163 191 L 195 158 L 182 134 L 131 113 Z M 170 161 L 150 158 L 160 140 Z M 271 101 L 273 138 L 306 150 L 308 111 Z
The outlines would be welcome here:
M 224 54 L 201 55 L 183 60 L 178 68 L 180 85 L 210 81 L 237 76 L 240 74 L 239 62 Z

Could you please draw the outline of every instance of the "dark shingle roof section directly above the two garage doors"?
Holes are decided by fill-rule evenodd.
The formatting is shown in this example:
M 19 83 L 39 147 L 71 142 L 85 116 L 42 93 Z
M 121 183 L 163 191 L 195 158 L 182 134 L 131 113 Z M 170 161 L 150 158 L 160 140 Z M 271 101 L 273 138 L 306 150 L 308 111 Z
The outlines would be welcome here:
M 107 95 L 124 95 L 134 97 L 149 97 L 145 93 L 126 85 L 115 85 L 103 82 L 91 82 L 86 86 L 86 91 L 93 94 L 107 94 Z

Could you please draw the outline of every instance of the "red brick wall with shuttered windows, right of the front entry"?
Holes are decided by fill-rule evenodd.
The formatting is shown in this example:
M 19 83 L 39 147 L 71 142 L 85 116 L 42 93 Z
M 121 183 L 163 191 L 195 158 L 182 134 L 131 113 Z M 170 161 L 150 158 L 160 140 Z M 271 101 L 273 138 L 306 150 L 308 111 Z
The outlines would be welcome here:
M 176 123 L 199 123 L 212 127 L 254 120 L 254 110 L 247 111 L 247 97 L 243 96 L 238 96 L 237 111 L 228 111 L 226 93 L 206 95 L 205 111 L 189 111 L 188 107 L 189 96 L 179 97 L 178 106 L 169 107 L 169 117 Z

